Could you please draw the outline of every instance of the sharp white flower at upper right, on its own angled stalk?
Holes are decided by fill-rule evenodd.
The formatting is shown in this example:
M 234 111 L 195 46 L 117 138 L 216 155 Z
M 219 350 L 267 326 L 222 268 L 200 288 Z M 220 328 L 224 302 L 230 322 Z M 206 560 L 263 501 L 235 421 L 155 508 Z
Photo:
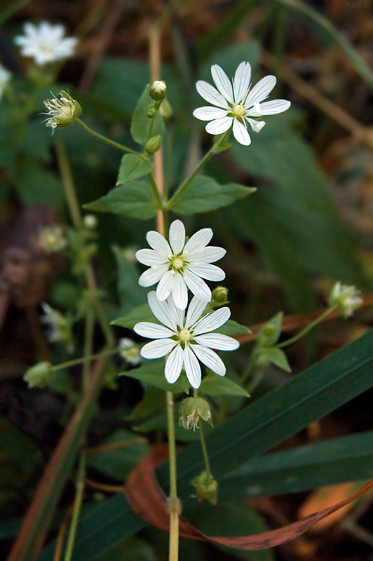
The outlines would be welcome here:
M 263 101 L 269 96 L 276 84 L 275 76 L 265 76 L 250 90 L 251 67 L 249 62 L 241 62 L 236 70 L 232 84 L 218 65 L 211 67 L 212 78 L 217 90 L 208 82 L 198 81 L 196 88 L 204 100 L 217 107 L 199 107 L 193 114 L 201 121 L 210 121 L 206 130 L 211 135 L 221 135 L 233 125 L 233 135 L 240 144 L 248 146 L 251 138 L 247 123 L 259 133 L 265 121 L 255 121 L 252 117 L 274 115 L 289 109 L 290 101 Z

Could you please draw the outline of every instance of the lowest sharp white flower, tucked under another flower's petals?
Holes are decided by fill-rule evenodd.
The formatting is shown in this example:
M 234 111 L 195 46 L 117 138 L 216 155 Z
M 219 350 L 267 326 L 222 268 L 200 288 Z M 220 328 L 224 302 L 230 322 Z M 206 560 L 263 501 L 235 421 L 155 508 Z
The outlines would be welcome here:
M 199 388 L 201 366 L 198 359 L 219 376 L 224 376 L 224 363 L 211 349 L 233 351 L 239 343 L 227 335 L 211 332 L 226 323 L 231 315 L 229 308 L 220 308 L 199 319 L 206 303 L 194 297 L 185 318 L 185 311 L 177 309 L 171 297 L 167 302 L 159 302 L 156 292 L 149 292 L 148 302 L 154 316 L 163 325 L 142 321 L 133 329 L 142 337 L 156 339 L 142 347 L 144 358 L 161 358 L 170 353 L 165 363 L 165 379 L 170 384 L 178 379 L 184 365 L 191 386 Z

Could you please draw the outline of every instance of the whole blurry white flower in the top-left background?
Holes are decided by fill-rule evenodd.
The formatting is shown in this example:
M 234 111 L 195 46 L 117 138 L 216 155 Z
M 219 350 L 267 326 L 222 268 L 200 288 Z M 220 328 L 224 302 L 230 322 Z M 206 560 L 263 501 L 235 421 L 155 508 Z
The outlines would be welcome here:
M 16 36 L 14 42 L 21 47 L 22 55 L 34 58 L 36 65 L 45 65 L 46 62 L 71 57 L 78 43 L 76 37 L 63 38 L 65 34 L 63 25 L 41 22 L 38 27 L 27 22 L 23 30 L 25 35 Z

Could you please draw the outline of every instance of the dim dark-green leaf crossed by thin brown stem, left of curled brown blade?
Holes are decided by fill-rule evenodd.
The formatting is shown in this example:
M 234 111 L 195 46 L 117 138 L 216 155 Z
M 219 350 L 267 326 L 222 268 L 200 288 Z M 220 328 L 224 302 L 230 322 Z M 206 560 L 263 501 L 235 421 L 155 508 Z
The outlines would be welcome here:
M 131 442 L 134 440 L 134 442 Z M 112 444 L 114 442 L 126 442 L 127 446 L 115 450 L 103 450 L 102 452 L 90 452 L 88 454 L 88 466 L 98 469 L 118 481 L 125 480 L 133 468 L 139 463 L 144 454 L 149 450 L 146 442 L 138 442 L 138 436 L 118 429 L 107 438 L 100 440 L 100 445 Z

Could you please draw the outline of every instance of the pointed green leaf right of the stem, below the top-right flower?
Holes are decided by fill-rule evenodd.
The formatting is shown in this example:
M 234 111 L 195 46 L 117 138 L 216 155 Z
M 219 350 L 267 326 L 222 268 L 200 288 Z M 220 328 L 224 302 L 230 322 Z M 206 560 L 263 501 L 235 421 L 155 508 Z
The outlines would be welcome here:
M 209 212 L 222 206 L 230 205 L 233 201 L 254 193 L 257 189 L 243 187 L 238 183 L 227 183 L 220 185 L 212 177 L 198 175 L 186 187 L 185 191 L 172 204 L 173 212 L 182 215 L 194 214 L 195 212 Z

